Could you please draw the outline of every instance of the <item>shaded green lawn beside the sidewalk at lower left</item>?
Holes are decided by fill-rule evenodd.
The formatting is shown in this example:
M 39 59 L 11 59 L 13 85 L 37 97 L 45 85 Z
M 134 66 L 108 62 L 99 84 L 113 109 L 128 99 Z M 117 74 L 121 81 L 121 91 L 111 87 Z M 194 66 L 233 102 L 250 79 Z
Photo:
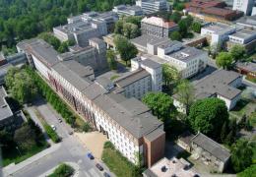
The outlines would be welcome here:
M 13 148 L 9 151 L 3 151 L 3 165 L 7 166 L 10 163 L 20 163 L 27 158 L 30 158 L 32 155 L 42 151 L 43 149 L 47 148 L 48 145 L 45 142 L 44 145 L 40 147 L 33 147 L 30 150 L 27 151 L 21 151 L 21 154 L 19 153 L 18 149 Z

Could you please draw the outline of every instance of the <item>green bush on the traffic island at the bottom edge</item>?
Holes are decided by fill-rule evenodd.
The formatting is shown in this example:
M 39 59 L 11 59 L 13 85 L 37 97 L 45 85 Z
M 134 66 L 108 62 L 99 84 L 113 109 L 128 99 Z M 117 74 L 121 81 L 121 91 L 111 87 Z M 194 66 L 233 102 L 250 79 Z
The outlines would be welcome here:
M 74 174 L 74 171 L 72 166 L 61 163 L 49 177 L 70 177 Z

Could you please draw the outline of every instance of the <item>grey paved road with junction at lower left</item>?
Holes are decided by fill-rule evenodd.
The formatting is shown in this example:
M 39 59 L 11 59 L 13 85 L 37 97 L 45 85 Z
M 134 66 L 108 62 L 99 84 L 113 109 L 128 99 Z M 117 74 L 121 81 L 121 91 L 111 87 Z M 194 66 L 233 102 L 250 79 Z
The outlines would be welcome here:
M 51 170 L 57 166 L 60 162 L 73 162 L 79 165 L 79 177 L 101 177 L 103 172 L 100 172 L 96 168 L 96 162 L 99 162 L 105 171 L 111 176 L 114 176 L 109 172 L 107 167 L 100 162 L 100 160 L 90 160 L 86 154 L 89 150 L 78 141 L 74 135 L 70 136 L 68 133 L 71 131 L 69 125 L 58 122 L 59 115 L 44 102 L 37 102 L 36 109 L 46 119 L 49 124 L 54 124 L 57 128 L 57 133 L 63 138 L 59 144 L 59 148 L 45 154 L 43 157 L 32 161 L 31 164 L 16 171 L 12 174 L 15 177 L 35 177 L 40 176 L 46 171 Z

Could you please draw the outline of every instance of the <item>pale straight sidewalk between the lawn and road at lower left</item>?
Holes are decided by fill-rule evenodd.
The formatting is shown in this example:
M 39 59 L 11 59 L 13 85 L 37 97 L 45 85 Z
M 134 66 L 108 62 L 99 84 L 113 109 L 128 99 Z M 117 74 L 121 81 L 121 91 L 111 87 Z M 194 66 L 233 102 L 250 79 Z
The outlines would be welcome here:
M 3 168 L 3 175 L 4 176 L 10 176 L 13 173 L 16 173 L 17 171 L 25 168 L 26 166 L 32 164 L 32 162 L 37 161 L 38 159 L 40 159 L 43 156 L 46 156 L 50 153 L 52 153 L 53 151 L 56 151 L 58 148 L 60 148 L 61 144 L 55 144 L 53 146 L 51 146 L 50 148 L 46 148 L 45 150 L 33 155 L 32 157 L 24 160 L 23 162 L 20 162 L 18 164 L 10 164 L 6 167 Z

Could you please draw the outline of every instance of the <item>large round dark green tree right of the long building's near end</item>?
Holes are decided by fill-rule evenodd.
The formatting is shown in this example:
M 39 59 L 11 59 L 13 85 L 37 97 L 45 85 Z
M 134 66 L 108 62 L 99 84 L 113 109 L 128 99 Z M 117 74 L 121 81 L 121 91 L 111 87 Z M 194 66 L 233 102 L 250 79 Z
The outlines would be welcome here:
M 223 100 L 219 98 L 205 98 L 197 100 L 190 108 L 189 124 L 194 132 L 202 132 L 219 141 L 220 131 L 228 121 L 228 112 Z

